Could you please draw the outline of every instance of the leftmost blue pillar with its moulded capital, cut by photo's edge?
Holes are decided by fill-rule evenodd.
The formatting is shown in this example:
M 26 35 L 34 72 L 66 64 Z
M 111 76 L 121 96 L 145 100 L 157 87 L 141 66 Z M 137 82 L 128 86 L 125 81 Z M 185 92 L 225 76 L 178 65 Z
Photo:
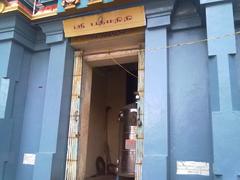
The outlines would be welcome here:
M 15 179 L 32 37 L 24 18 L 0 17 L 0 179 Z

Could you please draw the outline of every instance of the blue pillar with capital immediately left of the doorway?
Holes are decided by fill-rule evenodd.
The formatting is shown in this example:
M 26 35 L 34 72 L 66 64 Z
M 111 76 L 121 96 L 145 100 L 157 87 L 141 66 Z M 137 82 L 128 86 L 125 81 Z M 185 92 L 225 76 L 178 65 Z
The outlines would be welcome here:
M 42 24 L 50 45 L 43 123 L 33 180 L 64 179 L 71 98 L 73 51 L 62 22 Z

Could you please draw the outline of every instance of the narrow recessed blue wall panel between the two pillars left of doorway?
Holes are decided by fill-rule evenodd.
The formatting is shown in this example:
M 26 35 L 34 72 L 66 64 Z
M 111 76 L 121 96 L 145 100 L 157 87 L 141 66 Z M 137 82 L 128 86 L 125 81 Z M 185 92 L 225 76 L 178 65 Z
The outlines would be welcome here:
M 39 141 L 42 127 L 42 113 L 48 73 L 49 52 L 42 51 L 32 55 L 27 92 L 20 151 L 17 166 L 17 180 L 31 180 L 34 166 L 24 165 L 24 153 L 36 154 L 39 150 Z

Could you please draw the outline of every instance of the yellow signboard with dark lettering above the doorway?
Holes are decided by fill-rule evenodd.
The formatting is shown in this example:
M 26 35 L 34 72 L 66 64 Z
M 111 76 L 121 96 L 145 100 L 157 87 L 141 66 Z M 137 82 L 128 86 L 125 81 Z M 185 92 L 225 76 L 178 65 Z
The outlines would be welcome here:
M 146 25 L 144 7 L 133 7 L 63 21 L 65 37 L 76 37 Z

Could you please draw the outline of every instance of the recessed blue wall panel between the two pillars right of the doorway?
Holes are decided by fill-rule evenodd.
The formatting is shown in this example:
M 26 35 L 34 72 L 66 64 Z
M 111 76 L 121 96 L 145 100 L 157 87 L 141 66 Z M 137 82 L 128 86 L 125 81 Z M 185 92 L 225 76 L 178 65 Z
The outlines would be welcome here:
M 169 33 L 169 44 L 205 39 L 201 28 Z M 211 179 L 176 175 L 177 161 L 212 164 L 212 132 L 208 86 L 207 44 L 169 49 L 170 179 Z

